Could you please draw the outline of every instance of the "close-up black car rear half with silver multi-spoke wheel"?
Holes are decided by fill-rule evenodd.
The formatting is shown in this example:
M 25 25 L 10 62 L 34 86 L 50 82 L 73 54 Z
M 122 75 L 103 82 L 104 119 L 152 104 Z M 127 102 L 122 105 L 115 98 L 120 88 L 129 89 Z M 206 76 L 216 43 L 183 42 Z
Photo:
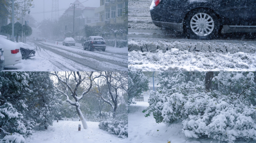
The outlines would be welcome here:
M 196 39 L 223 33 L 256 32 L 256 0 L 153 0 L 153 23 Z

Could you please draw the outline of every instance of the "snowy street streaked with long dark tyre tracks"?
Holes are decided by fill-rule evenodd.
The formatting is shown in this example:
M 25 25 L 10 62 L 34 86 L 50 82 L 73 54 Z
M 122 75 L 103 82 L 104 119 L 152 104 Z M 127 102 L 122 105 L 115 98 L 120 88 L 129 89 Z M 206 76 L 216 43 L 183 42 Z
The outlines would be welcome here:
M 3 71 L 125 71 L 127 47 L 107 46 L 106 51 L 83 50 L 82 45 L 63 46 L 52 42 L 27 42 L 36 48 L 36 56 L 22 60 Z

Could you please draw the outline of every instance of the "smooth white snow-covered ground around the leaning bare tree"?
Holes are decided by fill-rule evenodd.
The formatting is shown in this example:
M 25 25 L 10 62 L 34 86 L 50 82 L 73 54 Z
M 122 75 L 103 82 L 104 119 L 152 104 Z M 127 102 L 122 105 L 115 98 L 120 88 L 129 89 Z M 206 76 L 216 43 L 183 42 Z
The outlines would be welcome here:
M 98 127 L 98 122 L 87 122 L 88 129 L 81 128 L 78 131 L 80 121 L 54 120 L 52 126 L 47 130 L 36 130 L 30 138 L 29 143 L 127 143 L 128 139 L 118 138 L 117 135 L 109 134 Z

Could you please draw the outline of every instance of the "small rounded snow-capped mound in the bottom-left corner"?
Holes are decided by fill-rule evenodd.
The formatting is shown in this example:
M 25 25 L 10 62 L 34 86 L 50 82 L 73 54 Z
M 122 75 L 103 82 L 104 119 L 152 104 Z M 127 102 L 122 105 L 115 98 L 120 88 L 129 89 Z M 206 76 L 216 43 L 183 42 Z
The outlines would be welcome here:
M 26 143 L 26 140 L 24 137 L 18 133 L 13 133 L 10 136 L 5 136 L 2 140 L 0 140 L 1 143 Z

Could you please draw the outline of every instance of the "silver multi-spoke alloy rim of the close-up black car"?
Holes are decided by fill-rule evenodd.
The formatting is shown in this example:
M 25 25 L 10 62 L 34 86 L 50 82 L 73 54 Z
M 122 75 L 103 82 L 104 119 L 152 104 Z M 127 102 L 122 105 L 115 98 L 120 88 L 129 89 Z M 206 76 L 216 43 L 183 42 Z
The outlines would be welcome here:
M 214 21 L 206 13 L 197 13 L 191 18 L 190 27 L 196 35 L 207 36 L 213 32 Z

